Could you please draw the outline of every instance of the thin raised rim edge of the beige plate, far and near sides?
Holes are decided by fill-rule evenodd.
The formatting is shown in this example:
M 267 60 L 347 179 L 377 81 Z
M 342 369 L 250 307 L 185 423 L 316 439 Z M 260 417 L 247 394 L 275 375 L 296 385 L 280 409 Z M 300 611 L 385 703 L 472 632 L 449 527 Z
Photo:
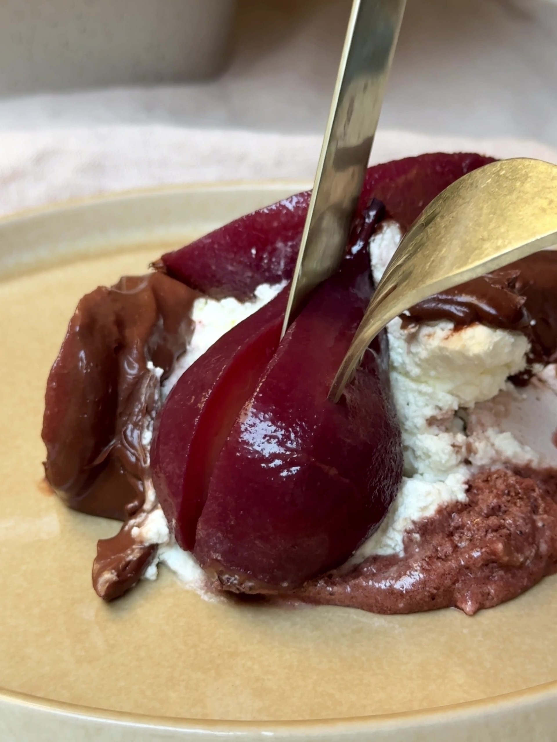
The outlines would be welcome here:
M 99 203 L 117 202 L 119 200 L 134 200 L 140 197 L 157 197 L 165 194 L 180 194 L 189 191 L 274 191 L 284 188 L 293 188 L 293 193 L 310 189 L 312 183 L 308 180 L 296 178 L 277 178 L 264 180 L 222 180 L 201 181 L 196 183 L 170 183 L 140 188 L 127 188 L 120 191 L 91 194 L 84 197 L 74 197 L 65 200 L 53 201 L 18 211 L 12 211 L 0 216 L 0 229 L 10 223 L 47 217 L 62 211 L 88 208 Z M 472 619 L 473 620 L 473 619 Z M 53 700 L 46 697 L 14 691 L 0 686 L 0 703 L 27 707 L 30 710 L 48 712 L 51 715 L 62 715 L 65 718 L 91 719 L 98 722 L 108 722 L 119 726 L 140 726 L 143 728 L 159 728 L 180 730 L 180 732 L 231 732 L 235 734 L 249 734 L 255 731 L 269 733 L 285 733 L 291 735 L 298 729 L 300 732 L 319 733 L 330 732 L 333 726 L 342 726 L 342 732 L 374 731 L 397 723 L 408 729 L 417 724 L 426 725 L 431 721 L 449 722 L 458 718 L 470 718 L 481 715 L 482 712 L 501 712 L 505 708 L 512 708 L 519 712 L 522 706 L 544 700 L 557 700 L 557 679 L 541 683 L 530 688 L 512 691 L 478 700 L 451 703 L 446 706 L 432 706 L 429 709 L 416 709 L 388 714 L 375 714 L 354 717 L 330 717 L 307 720 L 235 720 L 235 719 L 196 719 L 172 716 L 157 716 L 134 712 L 118 711 L 116 709 L 102 709 L 96 706 L 68 703 L 62 700 Z M 402 725 L 401 725 L 402 723 Z

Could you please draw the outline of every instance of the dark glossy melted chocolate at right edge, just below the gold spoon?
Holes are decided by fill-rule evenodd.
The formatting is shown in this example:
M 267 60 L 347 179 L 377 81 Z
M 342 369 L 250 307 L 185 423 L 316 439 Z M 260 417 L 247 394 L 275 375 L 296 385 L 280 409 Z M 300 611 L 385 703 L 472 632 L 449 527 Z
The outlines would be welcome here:
M 412 306 L 404 322 L 475 322 L 524 332 L 530 362 L 549 363 L 557 349 L 557 251 L 537 252 L 505 268 Z

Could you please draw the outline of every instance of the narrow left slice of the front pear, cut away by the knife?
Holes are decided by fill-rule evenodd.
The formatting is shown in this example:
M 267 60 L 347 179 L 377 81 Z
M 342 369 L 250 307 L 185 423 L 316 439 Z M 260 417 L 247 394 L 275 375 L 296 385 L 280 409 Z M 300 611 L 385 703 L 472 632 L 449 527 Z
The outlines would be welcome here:
M 195 545 L 212 467 L 280 339 L 287 289 L 233 327 L 178 379 L 157 416 L 151 465 L 175 538 Z

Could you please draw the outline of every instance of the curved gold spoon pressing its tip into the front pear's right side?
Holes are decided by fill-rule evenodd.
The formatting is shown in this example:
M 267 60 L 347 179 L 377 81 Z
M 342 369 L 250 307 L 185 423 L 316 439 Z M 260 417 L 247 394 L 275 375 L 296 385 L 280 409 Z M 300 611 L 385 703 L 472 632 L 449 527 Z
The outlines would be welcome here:
M 330 387 L 339 401 L 388 322 L 431 295 L 557 243 L 557 165 L 501 160 L 457 180 L 426 206 L 385 269 Z

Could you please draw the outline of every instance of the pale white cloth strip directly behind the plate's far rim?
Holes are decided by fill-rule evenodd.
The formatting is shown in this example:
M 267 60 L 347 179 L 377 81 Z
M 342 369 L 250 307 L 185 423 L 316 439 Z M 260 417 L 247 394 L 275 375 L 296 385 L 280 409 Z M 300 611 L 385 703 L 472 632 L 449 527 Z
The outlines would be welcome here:
M 166 125 L 0 131 L 0 214 L 128 188 L 215 180 L 313 180 L 321 137 Z M 510 139 L 380 131 L 371 162 L 431 151 L 538 157 L 557 151 Z

